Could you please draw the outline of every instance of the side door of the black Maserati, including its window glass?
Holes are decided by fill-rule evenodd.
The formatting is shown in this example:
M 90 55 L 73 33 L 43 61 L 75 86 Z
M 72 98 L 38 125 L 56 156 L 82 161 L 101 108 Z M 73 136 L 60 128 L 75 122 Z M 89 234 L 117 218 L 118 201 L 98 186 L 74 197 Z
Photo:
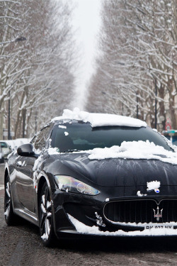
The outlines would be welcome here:
M 42 153 L 45 148 L 46 141 L 50 134 L 50 126 L 42 128 L 40 133 L 32 140 L 35 151 L 38 154 Z M 21 202 L 22 209 L 26 209 L 35 213 L 35 180 L 33 167 L 37 157 L 18 156 L 16 161 L 16 188 L 18 200 Z

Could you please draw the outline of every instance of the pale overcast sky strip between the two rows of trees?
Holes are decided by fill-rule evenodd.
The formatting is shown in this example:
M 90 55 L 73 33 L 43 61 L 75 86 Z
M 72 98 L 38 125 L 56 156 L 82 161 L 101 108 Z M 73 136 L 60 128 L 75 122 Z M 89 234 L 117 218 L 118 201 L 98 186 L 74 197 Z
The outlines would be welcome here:
M 97 35 L 101 24 L 101 0 L 73 0 L 76 4 L 73 25 L 81 52 L 81 68 L 76 73 L 76 94 L 72 107 L 84 110 L 86 84 L 93 72 L 93 58 L 97 50 Z

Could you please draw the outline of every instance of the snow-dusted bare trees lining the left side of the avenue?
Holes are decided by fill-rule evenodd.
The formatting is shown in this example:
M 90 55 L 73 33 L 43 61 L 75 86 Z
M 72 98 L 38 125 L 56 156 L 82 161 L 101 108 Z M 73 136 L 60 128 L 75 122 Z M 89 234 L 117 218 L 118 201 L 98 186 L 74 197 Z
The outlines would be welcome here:
M 29 137 L 68 105 L 71 13 L 64 0 L 0 0 L 0 139 L 9 126 L 14 138 Z

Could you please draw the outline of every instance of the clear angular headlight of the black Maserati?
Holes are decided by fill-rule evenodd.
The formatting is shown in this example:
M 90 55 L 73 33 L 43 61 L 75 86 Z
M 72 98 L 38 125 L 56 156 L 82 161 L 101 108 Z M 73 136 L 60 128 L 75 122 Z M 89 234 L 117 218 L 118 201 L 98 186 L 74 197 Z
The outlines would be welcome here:
M 100 193 L 97 189 L 94 189 L 88 184 L 67 175 L 55 175 L 55 181 L 59 189 L 64 192 L 75 192 L 92 196 Z

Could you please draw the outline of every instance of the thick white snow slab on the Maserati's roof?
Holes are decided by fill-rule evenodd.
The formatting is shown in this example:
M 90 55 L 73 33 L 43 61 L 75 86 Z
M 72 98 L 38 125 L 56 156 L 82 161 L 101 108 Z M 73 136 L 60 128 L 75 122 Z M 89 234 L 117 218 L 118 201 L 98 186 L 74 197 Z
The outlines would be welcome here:
M 52 119 L 57 121 L 61 119 L 79 120 L 91 123 L 93 128 L 97 126 L 132 126 L 136 128 L 147 127 L 147 123 L 136 118 L 127 116 L 118 116 L 109 113 L 88 113 L 75 108 L 73 111 L 64 109 L 62 116 Z

